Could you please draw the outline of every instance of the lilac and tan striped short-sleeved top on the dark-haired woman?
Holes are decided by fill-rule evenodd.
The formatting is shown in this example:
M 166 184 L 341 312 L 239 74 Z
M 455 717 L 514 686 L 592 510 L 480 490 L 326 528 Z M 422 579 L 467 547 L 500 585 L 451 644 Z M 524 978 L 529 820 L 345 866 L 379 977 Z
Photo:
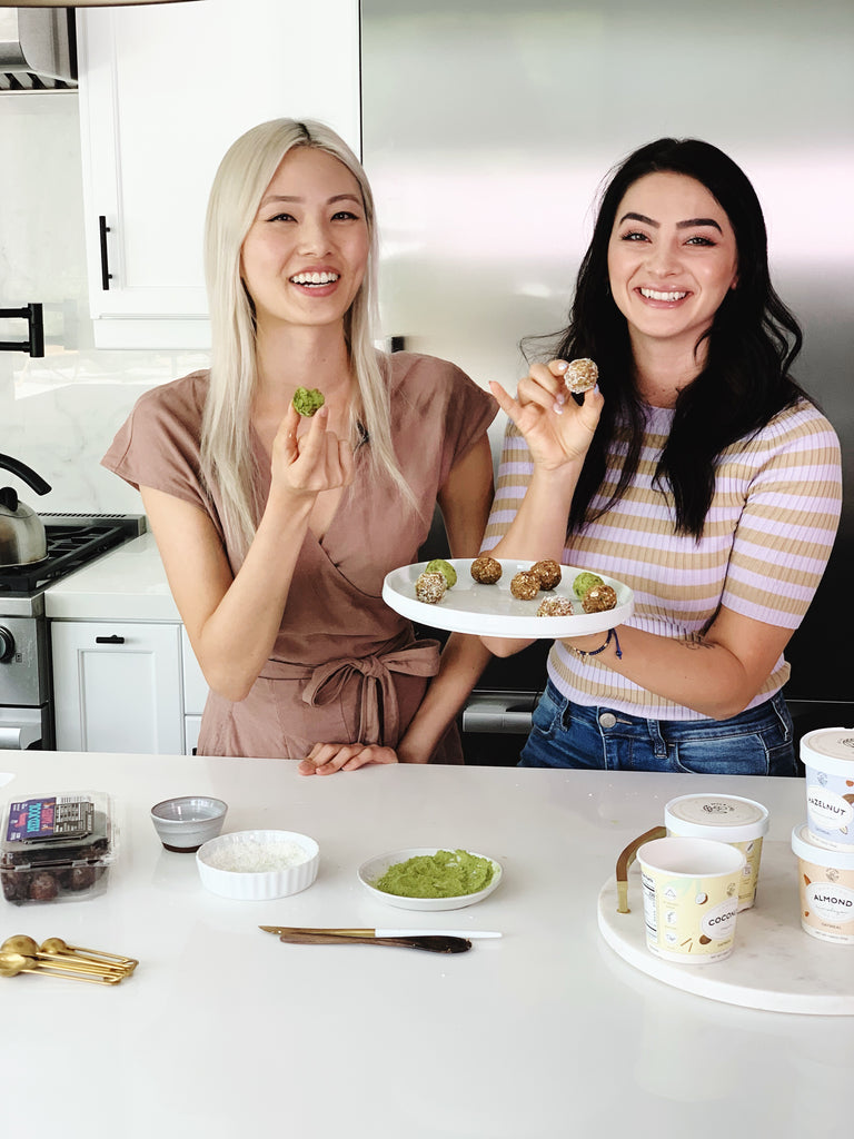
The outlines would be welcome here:
M 767 624 L 797 629 L 839 523 L 841 468 L 834 428 L 802 400 L 757 434 L 726 448 L 717 461 L 714 497 L 698 542 L 675 533 L 672 495 L 652 484 L 673 415 L 668 408 L 647 409 L 640 465 L 627 493 L 572 535 L 565 564 L 630 585 L 634 614 L 627 624 L 660 637 L 700 636 L 722 605 Z M 624 442 L 611 445 L 593 509 L 602 507 L 616 486 L 625 451 Z M 484 550 L 506 533 L 532 472 L 527 444 L 509 424 Z M 578 659 L 560 641 L 552 646 L 548 669 L 552 682 L 578 704 L 607 705 L 649 719 L 703 719 L 596 657 Z M 750 706 L 770 699 L 788 677 L 789 665 L 781 656 Z

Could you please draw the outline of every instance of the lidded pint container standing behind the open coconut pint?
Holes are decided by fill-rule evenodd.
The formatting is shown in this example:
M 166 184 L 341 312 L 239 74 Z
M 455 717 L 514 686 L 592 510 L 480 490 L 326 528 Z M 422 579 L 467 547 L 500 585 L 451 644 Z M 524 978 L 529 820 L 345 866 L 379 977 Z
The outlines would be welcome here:
M 754 904 L 762 839 L 769 827 L 767 808 L 738 795 L 680 795 L 665 806 L 664 825 L 668 835 L 712 838 L 740 850 L 745 869 L 738 887 L 738 908 L 747 910 Z

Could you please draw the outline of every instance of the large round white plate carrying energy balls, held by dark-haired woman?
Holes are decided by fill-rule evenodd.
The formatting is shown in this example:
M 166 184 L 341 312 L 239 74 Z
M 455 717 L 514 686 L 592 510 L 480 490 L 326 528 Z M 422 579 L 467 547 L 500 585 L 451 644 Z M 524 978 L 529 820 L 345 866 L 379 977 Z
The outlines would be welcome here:
M 402 566 L 386 575 L 383 600 L 395 613 L 410 621 L 434 629 L 483 637 L 518 637 L 548 639 L 584 637 L 586 633 L 607 632 L 623 624 L 634 609 L 634 595 L 627 585 L 614 577 L 599 576 L 617 593 L 617 606 L 605 613 L 584 613 L 581 601 L 573 593 L 573 582 L 581 570 L 561 566 L 563 579 L 556 589 L 541 590 L 533 601 L 519 601 L 510 592 L 510 581 L 520 570 L 529 570 L 533 562 L 499 558 L 502 574 L 494 585 L 482 585 L 473 580 L 470 567 L 474 558 L 449 558 L 457 571 L 457 584 L 445 590 L 436 605 L 427 605 L 416 597 L 416 581 L 424 573 L 426 562 Z M 540 603 L 547 597 L 566 597 L 575 613 L 570 617 L 537 617 Z

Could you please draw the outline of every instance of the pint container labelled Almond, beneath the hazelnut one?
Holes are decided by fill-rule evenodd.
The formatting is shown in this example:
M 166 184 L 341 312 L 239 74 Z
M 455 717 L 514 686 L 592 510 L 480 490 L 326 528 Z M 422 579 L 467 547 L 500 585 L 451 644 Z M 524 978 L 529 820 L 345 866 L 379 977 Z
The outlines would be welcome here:
M 802 928 L 820 941 L 854 945 L 854 849 L 821 846 L 806 823 L 791 831 L 791 849 L 798 859 Z

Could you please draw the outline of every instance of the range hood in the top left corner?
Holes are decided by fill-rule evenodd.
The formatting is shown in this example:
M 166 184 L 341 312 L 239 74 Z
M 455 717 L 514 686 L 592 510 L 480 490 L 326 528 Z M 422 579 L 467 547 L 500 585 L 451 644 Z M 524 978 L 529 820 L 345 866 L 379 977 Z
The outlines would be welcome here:
M 0 95 L 77 85 L 72 8 L 0 8 Z

